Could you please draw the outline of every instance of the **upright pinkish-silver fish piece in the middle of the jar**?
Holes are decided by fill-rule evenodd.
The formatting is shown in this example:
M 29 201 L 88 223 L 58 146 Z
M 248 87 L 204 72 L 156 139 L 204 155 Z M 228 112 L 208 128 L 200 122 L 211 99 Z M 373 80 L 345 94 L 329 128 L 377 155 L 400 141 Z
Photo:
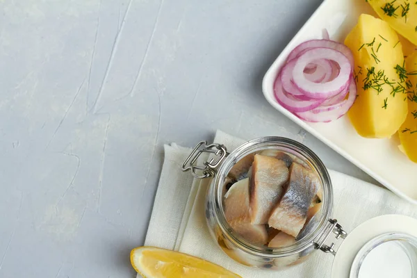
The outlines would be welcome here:
M 255 155 L 250 181 L 250 218 L 252 224 L 267 224 L 272 209 L 284 192 L 288 168 L 284 161 Z

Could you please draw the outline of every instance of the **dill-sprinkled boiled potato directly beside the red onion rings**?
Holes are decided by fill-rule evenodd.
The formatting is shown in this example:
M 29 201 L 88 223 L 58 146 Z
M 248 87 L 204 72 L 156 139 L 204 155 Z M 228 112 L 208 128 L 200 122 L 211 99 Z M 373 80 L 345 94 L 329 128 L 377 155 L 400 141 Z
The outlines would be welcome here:
M 407 116 L 404 56 L 398 35 L 381 19 L 360 15 L 345 44 L 354 56 L 357 81 L 350 121 L 363 137 L 390 137 Z

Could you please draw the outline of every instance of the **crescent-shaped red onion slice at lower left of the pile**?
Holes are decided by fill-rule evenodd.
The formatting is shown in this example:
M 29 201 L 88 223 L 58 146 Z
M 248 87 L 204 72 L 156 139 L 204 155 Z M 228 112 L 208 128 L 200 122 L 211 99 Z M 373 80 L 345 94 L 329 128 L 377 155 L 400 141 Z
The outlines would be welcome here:
M 320 104 L 323 103 L 323 101 L 325 101 L 325 99 L 317 99 L 311 101 L 295 99 L 295 97 L 291 96 L 284 90 L 282 87 L 281 78 L 279 77 L 277 80 L 275 80 L 274 92 L 275 98 L 279 104 L 293 113 L 310 111 L 311 109 L 317 108 L 320 106 Z

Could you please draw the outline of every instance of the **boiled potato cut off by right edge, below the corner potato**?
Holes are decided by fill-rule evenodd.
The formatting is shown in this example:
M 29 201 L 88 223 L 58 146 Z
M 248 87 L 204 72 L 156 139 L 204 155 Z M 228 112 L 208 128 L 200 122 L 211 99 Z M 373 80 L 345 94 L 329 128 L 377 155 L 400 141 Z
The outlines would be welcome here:
M 407 96 L 409 113 L 404 124 L 400 127 L 398 134 L 402 150 L 407 156 L 417 163 L 417 52 L 406 59 L 407 69 Z

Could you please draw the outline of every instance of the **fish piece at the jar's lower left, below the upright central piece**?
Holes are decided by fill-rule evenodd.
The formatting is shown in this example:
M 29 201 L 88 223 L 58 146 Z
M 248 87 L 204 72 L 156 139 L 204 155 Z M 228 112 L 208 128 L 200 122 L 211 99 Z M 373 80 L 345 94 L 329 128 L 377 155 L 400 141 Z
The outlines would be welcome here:
M 251 224 L 248 217 L 236 218 L 229 222 L 229 225 L 236 234 L 239 234 L 254 245 L 265 245 L 268 242 L 268 233 L 265 225 Z

